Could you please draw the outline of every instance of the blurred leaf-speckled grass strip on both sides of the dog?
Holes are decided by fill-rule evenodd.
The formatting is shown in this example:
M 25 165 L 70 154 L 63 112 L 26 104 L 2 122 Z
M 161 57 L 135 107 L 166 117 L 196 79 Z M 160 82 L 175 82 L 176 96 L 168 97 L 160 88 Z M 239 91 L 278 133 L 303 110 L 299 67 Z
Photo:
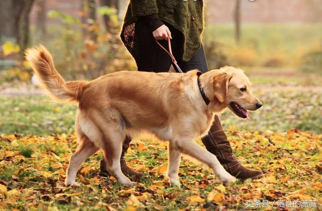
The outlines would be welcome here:
M 298 128 L 322 133 L 322 95 L 318 90 L 259 89 L 255 95 L 264 106 L 251 112 L 250 120 L 236 118 L 228 110 L 220 115 L 226 130 L 286 131 Z M 75 104 L 55 103 L 48 97 L 0 97 L 0 134 L 70 133 L 74 130 L 76 110 Z

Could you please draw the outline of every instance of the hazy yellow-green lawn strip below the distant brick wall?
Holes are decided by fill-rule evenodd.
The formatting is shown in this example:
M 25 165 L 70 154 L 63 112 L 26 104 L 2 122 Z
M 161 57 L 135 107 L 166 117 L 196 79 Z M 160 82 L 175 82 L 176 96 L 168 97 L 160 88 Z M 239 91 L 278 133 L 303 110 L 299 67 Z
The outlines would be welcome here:
M 242 24 L 240 44 L 250 45 L 259 53 L 285 52 L 291 55 L 322 44 L 322 24 Z M 235 43 L 234 25 L 207 25 L 206 43 L 215 38 Z

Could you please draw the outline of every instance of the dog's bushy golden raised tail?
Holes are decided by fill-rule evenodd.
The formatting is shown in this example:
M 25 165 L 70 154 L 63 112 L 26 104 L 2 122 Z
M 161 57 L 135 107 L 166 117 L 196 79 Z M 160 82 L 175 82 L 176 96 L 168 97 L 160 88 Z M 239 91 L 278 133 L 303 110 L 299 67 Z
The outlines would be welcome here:
M 49 96 L 58 101 L 79 101 L 85 81 L 65 80 L 56 71 L 49 51 L 42 45 L 26 50 L 26 59 Z

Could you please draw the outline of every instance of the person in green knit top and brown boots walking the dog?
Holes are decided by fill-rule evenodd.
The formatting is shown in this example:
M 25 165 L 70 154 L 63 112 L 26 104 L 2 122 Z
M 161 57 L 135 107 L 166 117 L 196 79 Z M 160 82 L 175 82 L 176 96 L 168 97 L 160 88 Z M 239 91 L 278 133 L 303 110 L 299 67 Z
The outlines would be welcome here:
M 121 39 L 136 61 L 138 71 L 168 72 L 171 66 L 169 55 L 157 45 L 156 40 L 168 48 L 171 39 L 172 51 L 183 72 L 199 69 L 208 71 L 201 43 L 203 31 L 203 1 L 131 0 L 124 18 Z M 263 173 L 241 165 L 232 154 L 231 146 L 218 116 L 202 143 L 214 154 L 224 169 L 239 179 L 259 178 Z M 126 165 L 124 155 L 130 146 L 131 137 L 123 143 L 121 169 L 130 176 L 140 177 Z M 106 163 L 101 161 L 101 176 L 109 176 Z

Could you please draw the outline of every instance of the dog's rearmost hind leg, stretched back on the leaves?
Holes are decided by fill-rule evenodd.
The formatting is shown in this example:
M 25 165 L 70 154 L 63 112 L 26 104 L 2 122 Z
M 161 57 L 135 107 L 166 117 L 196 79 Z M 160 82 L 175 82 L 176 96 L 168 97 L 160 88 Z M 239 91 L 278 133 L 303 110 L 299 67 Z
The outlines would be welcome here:
M 75 182 L 79 166 L 81 166 L 87 158 L 94 155 L 98 150 L 99 148 L 96 147 L 86 135 L 83 134 L 81 138 L 79 138 L 76 152 L 71 155 L 69 160 L 65 185 L 79 186 L 79 184 Z

